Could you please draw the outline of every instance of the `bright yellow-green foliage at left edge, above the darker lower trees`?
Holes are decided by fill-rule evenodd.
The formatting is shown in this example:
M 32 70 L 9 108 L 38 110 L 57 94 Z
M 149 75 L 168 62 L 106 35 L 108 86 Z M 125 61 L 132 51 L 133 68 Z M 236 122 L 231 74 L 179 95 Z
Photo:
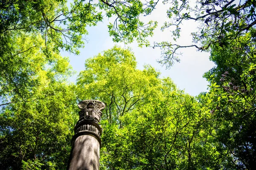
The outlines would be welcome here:
M 6 42 L 3 42 L 0 54 L 2 100 L 35 100 L 33 88 L 49 85 L 54 76 L 66 79 L 71 73 L 67 59 L 53 51 L 50 56 L 45 55 L 44 50 L 47 47 L 40 35 L 17 32 L 8 39 L 3 37 L 4 39 L 9 40 L 9 45 L 4 45 Z M 48 44 L 48 48 L 52 47 L 50 45 Z

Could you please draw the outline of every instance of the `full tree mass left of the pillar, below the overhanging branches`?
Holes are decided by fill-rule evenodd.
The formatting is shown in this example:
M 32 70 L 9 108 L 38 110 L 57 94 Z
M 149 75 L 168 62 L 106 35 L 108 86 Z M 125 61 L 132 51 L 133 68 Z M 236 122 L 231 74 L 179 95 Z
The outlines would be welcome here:
M 40 35 L 20 32 L 0 47 L 3 170 L 64 169 L 67 164 L 76 96 L 66 80 L 73 71 L 58 53 L 47 58 L 42 44 Z

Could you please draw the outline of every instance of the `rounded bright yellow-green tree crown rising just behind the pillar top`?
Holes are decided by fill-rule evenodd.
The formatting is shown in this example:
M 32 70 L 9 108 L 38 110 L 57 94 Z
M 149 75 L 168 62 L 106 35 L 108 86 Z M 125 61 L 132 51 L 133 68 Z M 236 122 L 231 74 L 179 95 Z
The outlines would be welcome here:
M 121 119 L 137 105 L 152 99 L 159 72 L 151 66 L 136 68 L 134 54 L 117 46 L 87 59 L 78 77 L 79 99 L 99 99 L 106 104 L 109 123 L 121 126 Z

